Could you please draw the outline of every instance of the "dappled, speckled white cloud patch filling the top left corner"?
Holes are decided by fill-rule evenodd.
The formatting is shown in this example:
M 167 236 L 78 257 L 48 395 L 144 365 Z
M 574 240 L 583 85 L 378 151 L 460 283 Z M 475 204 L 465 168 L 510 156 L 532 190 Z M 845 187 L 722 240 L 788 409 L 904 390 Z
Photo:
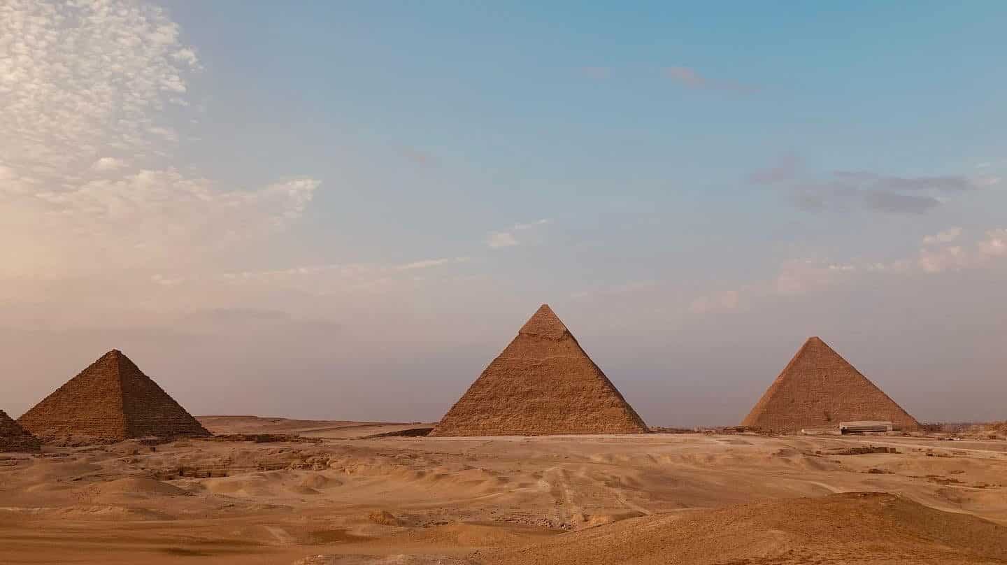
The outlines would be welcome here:
M 146 152 L 170 132 L 156 112 L 198 69 L 178 36 L 143 2 L 4 2 L 0 155 L 23 174 L 63 176 L 99 150 Z

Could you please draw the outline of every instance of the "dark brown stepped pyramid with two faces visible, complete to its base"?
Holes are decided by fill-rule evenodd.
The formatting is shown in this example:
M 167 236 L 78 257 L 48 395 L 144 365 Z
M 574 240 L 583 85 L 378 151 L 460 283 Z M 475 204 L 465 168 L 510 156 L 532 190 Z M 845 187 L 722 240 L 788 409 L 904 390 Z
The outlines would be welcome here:
M 18 423 L 40 437 L 74 434 L 103 441 L 210 435 L 118 349 L 102 356 Z

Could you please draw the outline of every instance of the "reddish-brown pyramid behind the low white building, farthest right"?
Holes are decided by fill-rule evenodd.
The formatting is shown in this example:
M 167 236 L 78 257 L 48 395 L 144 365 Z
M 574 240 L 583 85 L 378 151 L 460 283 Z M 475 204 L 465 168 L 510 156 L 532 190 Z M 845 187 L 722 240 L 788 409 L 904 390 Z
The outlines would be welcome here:
M 741 425 L 796 432 L 861 420 L 891 422 L 902 430 L 919 426 L 825 341 L 810 337 Z

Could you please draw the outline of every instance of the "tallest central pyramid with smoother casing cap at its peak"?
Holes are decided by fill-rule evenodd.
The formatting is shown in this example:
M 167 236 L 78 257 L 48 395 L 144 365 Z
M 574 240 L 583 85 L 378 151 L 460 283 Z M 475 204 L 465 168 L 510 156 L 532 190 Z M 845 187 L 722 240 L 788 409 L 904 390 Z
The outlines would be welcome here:
M 643 420 L 543 304 L 430 435 L 646 431 Z

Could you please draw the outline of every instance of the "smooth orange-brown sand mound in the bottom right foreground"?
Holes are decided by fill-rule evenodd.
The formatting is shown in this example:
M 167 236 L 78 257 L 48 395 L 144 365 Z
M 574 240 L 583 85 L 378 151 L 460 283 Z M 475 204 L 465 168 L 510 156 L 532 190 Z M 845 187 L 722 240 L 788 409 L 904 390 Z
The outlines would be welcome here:
M 1003 563 L 1007 528 L 851 492 L 638 518 L 488 556 L 494 565 Z

